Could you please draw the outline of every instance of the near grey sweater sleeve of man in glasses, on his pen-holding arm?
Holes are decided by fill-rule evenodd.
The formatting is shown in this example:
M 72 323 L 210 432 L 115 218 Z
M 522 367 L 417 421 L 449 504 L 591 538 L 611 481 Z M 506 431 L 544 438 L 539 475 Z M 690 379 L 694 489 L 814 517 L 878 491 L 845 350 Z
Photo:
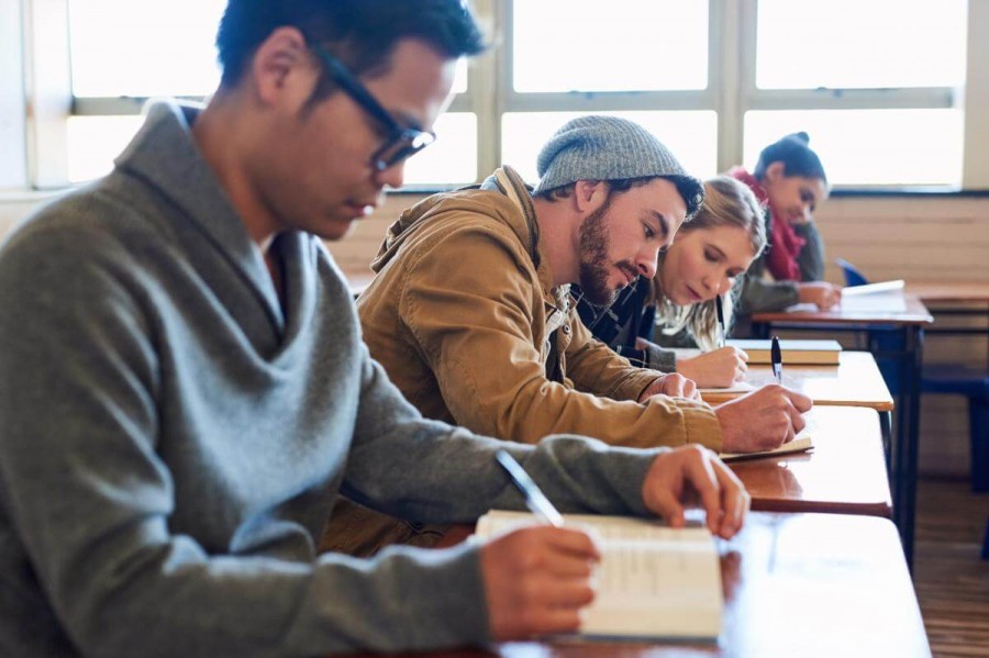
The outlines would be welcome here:
M 0 258 L 0 303 L 18 309 L 0 314 L 0 531 L 9 520 L 81 654 L 310 656 L 485 639 L 473 546 L 300 560 L 174 532 L 175 514 L 196 512 L 176 509 L 179 481 L 157 450 L 160 346 L 146 306 L 92 239 L 42 237 Z M 13 548 L 0 550 L 10 559 Z

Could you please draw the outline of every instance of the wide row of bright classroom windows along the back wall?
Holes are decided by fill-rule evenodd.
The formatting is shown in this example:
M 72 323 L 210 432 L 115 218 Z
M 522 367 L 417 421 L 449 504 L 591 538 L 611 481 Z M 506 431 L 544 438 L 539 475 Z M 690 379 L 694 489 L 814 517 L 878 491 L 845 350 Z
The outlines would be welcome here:
M 966 115 L 966 98 L 979 98 L 966 82 L 989 74 L 967 40 L 969 16 L 986 12 L 966 0 L 609 0 L 607 11 L 600 0 L 474 2 L 494 46 L 459 64 L 438 141 L 408 163 L 409 186 L 476 182 L 502 163 L 534 181 L 540 145 L 587 113 L 641 121 L 701 177 L 752 167 L 762 146 L 807 131 L 838 187 L 970 185 L 965 154 L 984 150 L 989 132 L 971 100 Z M 65 54 L 33 53 L 45 66 L 25 85 L 65 96 L 58 121 L 37 122 L 45 138 L 27 141 L 42 145 L 33 161 L 46 168 L 31 174 L 35 185 L 108 171 L 144 99 L 202 98 L 219 80 L 225 0 L 22 3 L 29 16 L 52 7 L 65 15 Z M 36 21 L 25 44 L 52 48 L 54 24 Z M 44 79 L 67 59 L 70 75 Z M 53 107 L 42 100 L 26 102 Z

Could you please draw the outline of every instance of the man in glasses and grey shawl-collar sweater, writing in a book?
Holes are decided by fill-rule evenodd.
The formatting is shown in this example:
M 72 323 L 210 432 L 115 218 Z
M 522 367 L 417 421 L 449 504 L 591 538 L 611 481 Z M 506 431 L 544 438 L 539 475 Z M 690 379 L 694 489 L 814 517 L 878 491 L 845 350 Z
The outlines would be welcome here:
M 337 492 L 431 522 L 521 509 L 712 531 L 747 497 L 702 450 L 503 446 L 423 420 L 368 356 L 320 238 L 431 138 L 456 0 L 231 0 L 221 87 L 159 104 L 107 178 L 0 250 L 0 655 L 318 656 L 569 632 L 597 549 L 532 527 L 374 560 L 318 555 Z M 569 473 L 569 475 L 568 475 Z M 573 477 L 582 473 L 579 483 Z

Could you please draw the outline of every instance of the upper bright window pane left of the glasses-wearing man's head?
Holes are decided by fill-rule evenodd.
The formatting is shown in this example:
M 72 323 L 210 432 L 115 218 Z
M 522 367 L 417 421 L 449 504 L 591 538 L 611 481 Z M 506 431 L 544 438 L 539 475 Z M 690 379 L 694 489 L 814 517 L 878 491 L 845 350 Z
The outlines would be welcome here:
M 225 0 L 70 0 L 73 93 L 205 96 L 216 89 Z

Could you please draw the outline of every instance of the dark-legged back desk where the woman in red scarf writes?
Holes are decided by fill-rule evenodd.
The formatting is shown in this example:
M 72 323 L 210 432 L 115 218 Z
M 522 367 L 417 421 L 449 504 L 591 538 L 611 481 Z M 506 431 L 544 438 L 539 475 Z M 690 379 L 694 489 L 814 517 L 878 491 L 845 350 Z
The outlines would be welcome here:
M 896 302 L 896 304 L 889 302 Z M 870 308 L 874 306 L 874 308 Z M 854 304 L 833 311 L 796 310 L 755 313 L 753 331 L 768 337 L 773 327 L 813 331 L 865 332 L 869 352 L 897 365 L 896 440 L 890 445 L 893 518 L 900 529 L 907 564 L 913 560 L 913 516 L 916 505 L 916 457 L 920 435 L 920 378 L 924 330 L 933 322 L 921 300 L 912 294 L 890 292 L 857 298 Z M 889 338 L 894 338 L 892 342 Z M 892 346 L 890 346 L 892 345 Z

